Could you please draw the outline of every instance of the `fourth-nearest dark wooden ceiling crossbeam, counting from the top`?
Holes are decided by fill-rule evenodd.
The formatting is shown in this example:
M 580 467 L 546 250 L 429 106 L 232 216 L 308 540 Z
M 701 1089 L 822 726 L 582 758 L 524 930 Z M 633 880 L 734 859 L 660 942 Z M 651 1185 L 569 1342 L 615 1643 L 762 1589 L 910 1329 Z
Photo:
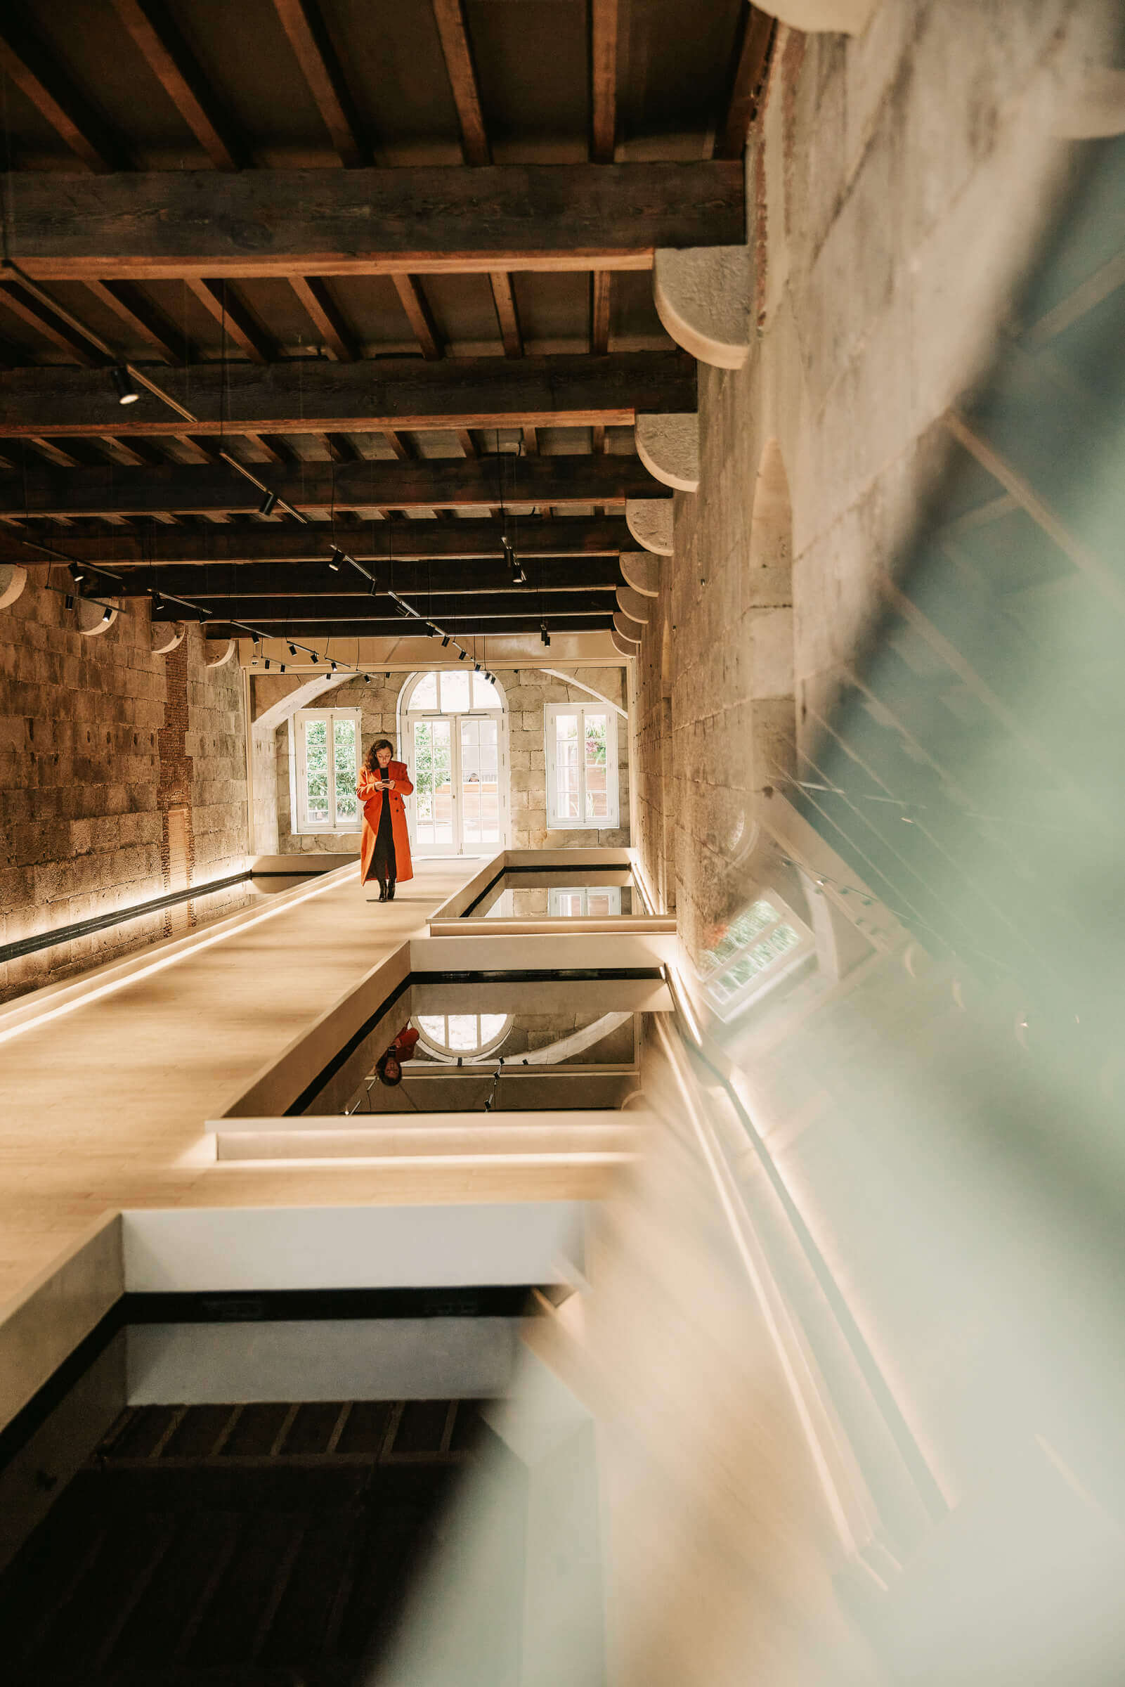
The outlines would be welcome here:
M 17 471 L 19 472 L 19 471 Z M 339 472 L 339 471 L 337 471 Z M 34 536 L 44 528 L 30 525 Z M 83 547 L 83 558 L 91 565 L 108 569 L 142 563 L 172 563 L 199 567 L 233 563 L 255 567 L 258 563 L 309 563 L 322 565 L 332 543 L 327 521 L 290 526 L 229 526 L 223 530 L 180 528 L 175 533 L 142 535 L 106 533 L 93 523 L 76 523 L 71 538 Z M 466 520 L 464 516 L 437 521 L 400 521 L 395 533 L 395 567 L 400 562 L 498 562 L 503 557 L 503 528 L 499 521 Z M 636 542 L 622 516 L 560 516 L 553 521 L 521 518 L 516 523 L 516 545 L 521 557 L 609 557 L 632 550 Z M 359 562 L 386 557 L 386 535 L 371 531 L 364 521 L 349 533 L 347 550 Z M 27 552 L 17 545 L 7 530 L 0 530 L 0 562 L 19 562 Z M 616 565 L 616 562 L 614 562 Z

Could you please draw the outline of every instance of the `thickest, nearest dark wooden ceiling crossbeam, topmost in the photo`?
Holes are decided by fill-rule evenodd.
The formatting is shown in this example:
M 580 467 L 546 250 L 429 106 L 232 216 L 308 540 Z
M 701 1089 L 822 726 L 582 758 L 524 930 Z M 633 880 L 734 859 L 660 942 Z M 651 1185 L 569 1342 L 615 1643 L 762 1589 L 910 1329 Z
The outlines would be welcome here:
M 64 204 L 57 181 L 7 177 L 39 280 L 648 270 L 658 246 L 746 240 L 735 160 L 137 170 L 73 177 Z

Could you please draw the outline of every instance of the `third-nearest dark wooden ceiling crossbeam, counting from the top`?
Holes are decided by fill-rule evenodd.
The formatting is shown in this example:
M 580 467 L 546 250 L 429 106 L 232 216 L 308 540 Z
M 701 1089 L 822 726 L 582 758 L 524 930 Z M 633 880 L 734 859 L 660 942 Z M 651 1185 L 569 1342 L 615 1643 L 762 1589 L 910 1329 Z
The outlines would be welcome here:
M 450 509 L 499 501 L 496 457 L 430 459 L 428 462 L 302 462 L 278 466 L 270 486 L 295 509 Z M 506 493 L 519 504 L 624 504 L 629 498 L 671 498 L 638 457 L 528 457 L 513 488 L 511 459 Z M 7 515 L 147 515 L 153 509 L 250 511 L 261 493 L 234 469 L 157 467 L 74 469 L 69 474 L 0 477 L 0 513 Z

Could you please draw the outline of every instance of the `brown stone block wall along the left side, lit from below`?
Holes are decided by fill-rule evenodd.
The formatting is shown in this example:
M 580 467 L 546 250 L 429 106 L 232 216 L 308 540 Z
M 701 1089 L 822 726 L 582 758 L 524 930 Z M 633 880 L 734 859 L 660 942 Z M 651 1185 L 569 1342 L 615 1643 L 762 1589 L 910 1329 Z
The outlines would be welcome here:
M 0 611 L 0 945 L 196 884 L 246 859 L 238 668 L 207 670 L 199 629 L 155 656 L 147 601 L 84 638 L 62 570 L 34 567 Z M 228 897 L 229 899 L 229 897 Z M 223 911 L 207 901 L 207 916 Z M 177 928 L 196 916 L 175 911 Z M 0 1000 L 123 955 L 172 930 L 157 913 L 0 962 Z

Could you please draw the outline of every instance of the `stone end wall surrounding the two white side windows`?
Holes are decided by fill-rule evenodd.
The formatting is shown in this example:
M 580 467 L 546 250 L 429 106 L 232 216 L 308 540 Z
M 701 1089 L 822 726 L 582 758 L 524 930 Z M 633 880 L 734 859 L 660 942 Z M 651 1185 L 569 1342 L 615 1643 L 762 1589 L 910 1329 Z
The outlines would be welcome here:
M 346 680 L 342 685 L 324 692 L 309 707 L 320 709 L 361 709 L 363 710 L 363 747 L 376 737 L 388 737 L 398 747 L 398 695 L 410 675 L 391 673 L 373 675 L 371 683 L 363 680 Z M 575 678 L 594 687 L 612 702 L 626 707 L 626 682 L 621 668 L 577 668 Z M 277 702 L 285 693 L 275 682 L 268 700 Z M 293 682 L 295 690 L 300 682 Z M 582 703 L 595 702 L 575 685 L 567 685 L 538 668 L 519 668 L 501 673 L 499 683 L 508 702 L 508 751 L 511 778 L 511 847 L 513 849 L 594 849 L 597 845 L 621 847 L 629 842 L 629 729 L 627 722 L 617 720 L 617 784 L 619 784 L 619 825 L 600 832 L 560 832 L 546 827 L 546 751 L 545 751 L 545 709 L 548 703 Z M 265 693 L 263 693 L 265 697 Z M 255 709 L 258 709 L 258 682 L 255 682 Z M 290 727 L 283 722 L 275 729 L 275 768 L 277 768 L 277 837 L 278 852 L 314 852 L 339 850 L 354 854 L 359 849 L 359 832 L 312 832 L 295 835 L 292 828 L 290 800 Z

